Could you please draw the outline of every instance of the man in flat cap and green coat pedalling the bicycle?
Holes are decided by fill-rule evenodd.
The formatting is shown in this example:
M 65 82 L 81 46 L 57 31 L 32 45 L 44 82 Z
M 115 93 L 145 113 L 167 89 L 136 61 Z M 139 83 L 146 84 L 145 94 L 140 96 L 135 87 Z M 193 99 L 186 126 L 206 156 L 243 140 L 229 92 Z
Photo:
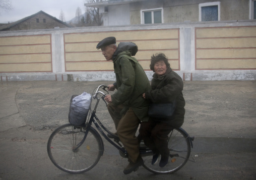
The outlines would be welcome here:
M 116 133 L 129 154 L 129 164 L 123 170 L 124 174 L 129 174 L 144 164 L 135 134 L 140 122 L 148 121 L 149 102 L 142 94 L 151 88 L 150 83 L 142 66 L 132 57 L 138 51 L 136 44 L 121 42 L 117 47 L 115 38 L 108 37 L 99 42 L 96 48 L 101 49 L 106 60 L 112 60 L 114 64 L 116 82 L 109 85 L 108 90 L 117 91 L 107 95 L 105 100 Z

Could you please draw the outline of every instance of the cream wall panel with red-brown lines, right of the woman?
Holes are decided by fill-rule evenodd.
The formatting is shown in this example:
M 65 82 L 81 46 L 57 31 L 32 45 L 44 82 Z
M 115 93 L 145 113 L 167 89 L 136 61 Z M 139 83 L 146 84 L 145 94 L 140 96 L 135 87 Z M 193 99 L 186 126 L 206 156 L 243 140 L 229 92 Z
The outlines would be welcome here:
M 196 70 L 255 69 L 256 27 L 196 28 Z

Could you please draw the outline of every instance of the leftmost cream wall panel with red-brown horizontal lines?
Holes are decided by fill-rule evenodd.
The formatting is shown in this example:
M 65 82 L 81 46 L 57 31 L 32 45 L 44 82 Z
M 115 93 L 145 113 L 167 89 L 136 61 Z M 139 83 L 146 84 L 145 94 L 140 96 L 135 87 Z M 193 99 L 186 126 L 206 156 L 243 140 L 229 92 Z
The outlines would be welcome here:
M 0 72 L 52 72 L 51 35 L 0 38 Z

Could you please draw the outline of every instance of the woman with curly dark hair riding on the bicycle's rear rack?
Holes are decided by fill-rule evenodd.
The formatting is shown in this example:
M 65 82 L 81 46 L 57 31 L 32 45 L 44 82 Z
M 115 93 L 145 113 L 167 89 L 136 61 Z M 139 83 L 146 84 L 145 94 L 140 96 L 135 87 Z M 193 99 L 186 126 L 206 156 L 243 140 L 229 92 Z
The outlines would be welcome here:
M 154 152 L 152 164 L 156 164 L 161 155 L 159 166 L 164 167 L 170 155 L 168 134 L 173 127 L 180 127 L 184 122 L 183 81 L 177 73 L 172 71 L 168 59 L 162 53 L 151 57 L 150 69 L 154 72 L 151 81 L 152 89 L 145 92 L 143 97 L 154 103 L 168 103 L 176 100 L 176 108 L 170 118 L 150 117 L 149 121 L 142 122 L 140 127 L 145 145 Z

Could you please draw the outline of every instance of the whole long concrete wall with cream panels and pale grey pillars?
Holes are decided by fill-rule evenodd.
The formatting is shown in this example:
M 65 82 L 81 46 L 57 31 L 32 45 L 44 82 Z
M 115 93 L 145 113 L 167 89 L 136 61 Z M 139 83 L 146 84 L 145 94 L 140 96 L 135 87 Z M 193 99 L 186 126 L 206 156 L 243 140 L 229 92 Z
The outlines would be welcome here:
M 96 49 L 108 36 L 138 45 L 150 80 L 159 52 L 184 81 L 256 79 L 256 21 L 229 21 L 1 32 L 1 81 L 114 81 L 112 61 Z

